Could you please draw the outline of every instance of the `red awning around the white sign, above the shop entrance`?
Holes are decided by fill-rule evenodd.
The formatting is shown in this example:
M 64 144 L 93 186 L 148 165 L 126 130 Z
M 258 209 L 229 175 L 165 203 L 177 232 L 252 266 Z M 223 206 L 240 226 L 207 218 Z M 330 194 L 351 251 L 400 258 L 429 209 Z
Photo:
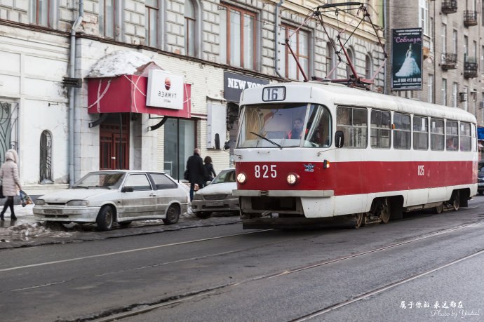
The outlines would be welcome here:
M 189 119 L 191 116 L 191 85 L 183 86 L 183 109 L 146 106 L 148 78 L 121 75 L 88 79 L 88 113 L 149 113 Z

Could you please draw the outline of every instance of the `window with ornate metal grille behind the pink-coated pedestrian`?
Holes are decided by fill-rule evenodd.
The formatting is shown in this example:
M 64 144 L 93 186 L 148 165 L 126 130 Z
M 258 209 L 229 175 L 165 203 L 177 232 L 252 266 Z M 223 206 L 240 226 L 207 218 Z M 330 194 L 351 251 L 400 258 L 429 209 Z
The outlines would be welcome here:
M 0 101 L 0 162 L 8 149 L 18 152 L 18 103 Z

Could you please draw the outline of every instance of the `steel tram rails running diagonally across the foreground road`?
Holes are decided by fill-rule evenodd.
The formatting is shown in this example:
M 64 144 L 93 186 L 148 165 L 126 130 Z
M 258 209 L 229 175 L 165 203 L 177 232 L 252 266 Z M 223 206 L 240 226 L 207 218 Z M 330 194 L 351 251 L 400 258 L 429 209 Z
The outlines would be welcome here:
M 483 227 L 483 226 L 484 226 L 484 220 L 481 220 L 481 221 L 478 221 L 478 222 L 473 222 L 473 223 L 470 223 L 470 224 L 461 224 L 457 227 L 451 227 L 451 228 L 443 229 L 443 230 L 440 230 L 440 231 L 437 231 L 437 232 L 430 232 L 430 233 L 424 234 L 422 236 L 417 236 L 417 237 L 414 237 L 414 238 L 411 238 L 411 239 L 407 239 L 405 241 L 399 241 L 397 243 L 390 243 L 389 245 L 381 246 L 381 247 L 378 247 L 378 248 L 372 248 L 370 250 L 364 250 L 364 251 L 359 252 L 359 253 L 344 255 L 344 256 L 332 258 L 330 260 L 323 260 L 321 262 L 316 262 L 316 263 L 313 263 L 313 264 L 302 265 L 300 267 L 295 267 L 293 269 L 287 269 L 285 271 L 277 271 L 277 272 L 272 273 L 272 274 L 264 274 L 262 276 L 255 276 L 251 279 L 245 279 L 243 281 L 237 281 L 236 283 L 229 283 L 229 284 L 224 285 L 224 286 L 217 286 L 217 287 L 214 287 L 214 288 L 207 288 L 205 290 L 194 291 L 194 292 L 189 293 L 189 294 L 177 295 L 175 297 L 170 297 L 170 298 L 165 298 L 165 299 L 159 300 L 156 303 L 133 304 L 130 308 L 124 308 L 124 309 L 119 309 L 119 310 L 110 311 L 110 312 L 106 311 L 106 312 L 103 312 L 102 314 L 98 314 L 96 317 L 85 318 L 85 319 L 77 319 L 75 321 L 96 321 L 96 322 L 115 321 L 115 320 L 119 320 L 121 318 L 126 318 L 128 316 L 136 316 L 138 314 L 143 314 L 145 312 L 152 311 L 154 309 L 167 307 L 167 306 L 177 304 L 177 303 L 180 303 L 180 302 L 187 302 L 189 300 L 196 300 L 196 299 L 200 299 L 202 297 L 208 297 L 210 295 L 213 295 L 214 293 L 217 293 L 217 291 L 222 290 L 224 288 L 237 287 L 237 286 L 241 286 L 241 285 L 256 282 L 256 281 L 275 279 L 275 278 L 280 277 L 280 276 L 285 276 L 285 275 L 288 275 L 288 274 L 294 274 L 294 273 L 297 273 L 297 272 L 300 272 L 300 271 L 304 271 L 304 270 L 308 270 L 308 269 L 314 269 L 316 267 L 322 267 L 324 265 L 332 264 L 332 263 L 335 263 L 335 262 L 342 262 L 344 260 L 351 260 L 355 257 L 361 257 L 361 256 L 364 256 L 364 255 L 369 255 L 369 254 L 372 254 L 372 253 L 381 252 L 381 251 L 384 251 L 384 250 L 388 250 L 390 248 L 405 246 L 405 245 L 408 245 L 410 243 L 416 243 L 418 241 L 422 241 L 424 239 L 431 239 L 431 238 L 436 237 L 436 236 L 442 236 L 444 234 L 451 234 L 451 233 L 457 232 L 461 229 L 468 229 L 468 228 L 473 228 L 473 227 Z M 271 229 L 267 229 L 267 230 L 271 230 Z M 258 231 L 258 232 L 262 232 L 262 231 Z M 457 260 L 452 260 L 451 262 L 441 264 L 438 267 L 434 267 L 432 269 L 429 269 L 429 270 L 420 272 L 418 274 L 409 276 L 405 279 L 401 279 L 399 281 L 389 283 L 388 285 L 382 286 L 382 287 L 377 288 L 375 290 L 370 290 L 367 293 L 364 293 L 362 295 L 358 295 L 358 296 L 353 297 L 353 298 L 346 300 L 344 302 L 333 304 L 330 307 L 325 307 L 325 308 L 322 308 L 318 311 L 311 312 L 311 314 L 301 316 L 300 318 L 296 318 L 293 321 L 306 321 L 309 318 L 314 318 L 314 317 L 319 316 L 321 314 L 324 314 L 328 311 L 338 309 L 340 307 L 344 307 L 344 306 L 351 304 L 353 302 L 357 302 L 358 300 L 363 300 L 364 298 L 369 297 L 371 295 L 375 295 L 377 293 L 382 293 L 385 290 L 389 290 L 391 288 L 399 286 L 399 285 L 406 283 L 408 281 L 412 281 L 412 280 L 417 279 L 421 276 L 431 274 L 434 271 L 438 271 L 438 270 L 443 269 L 445 267 L 449 267 L 452 264 L 457 264 L 458 262 L 462 262 L 466 259 L 469 259 L 469 258 L 474 257 L 476 255 L 481 255 L 483 253 L 484 253 L 484 249 L 478 250 L 476 253 L 472 253 L 472 254 L 469 254 L 469 255 L 466 255 L 466 256 L 463 256 L 463 257 L 459 257 Z

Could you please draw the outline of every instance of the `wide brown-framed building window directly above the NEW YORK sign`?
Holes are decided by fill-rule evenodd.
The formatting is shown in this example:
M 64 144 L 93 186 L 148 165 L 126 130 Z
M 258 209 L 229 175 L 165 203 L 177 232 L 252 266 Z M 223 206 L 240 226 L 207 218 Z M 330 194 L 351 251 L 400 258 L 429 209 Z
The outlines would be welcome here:
M 219 14 L 220 62 L 255 69 L 255 14 L 226 4 Z

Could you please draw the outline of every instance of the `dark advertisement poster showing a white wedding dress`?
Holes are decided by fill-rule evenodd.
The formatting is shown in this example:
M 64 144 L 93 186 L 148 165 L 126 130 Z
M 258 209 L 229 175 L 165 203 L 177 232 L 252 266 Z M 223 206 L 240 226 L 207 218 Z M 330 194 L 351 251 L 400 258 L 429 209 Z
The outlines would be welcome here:
M 391 89 L 422 90 L 422 28 L 392 29 Z

